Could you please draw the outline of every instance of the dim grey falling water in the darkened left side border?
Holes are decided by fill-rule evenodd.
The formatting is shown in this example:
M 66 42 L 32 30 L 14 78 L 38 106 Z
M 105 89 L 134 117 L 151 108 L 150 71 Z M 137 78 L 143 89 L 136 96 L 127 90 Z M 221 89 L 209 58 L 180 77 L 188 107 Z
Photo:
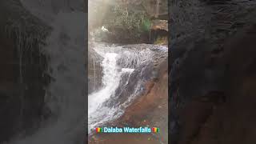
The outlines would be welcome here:
M 44 123 L 34 134 L 15 138 L 14 144 L 75 144 L 85 139 L 86 14 L 81 11 L 51 11 L 50 1 L 22 0 L 23 6 L 53 28 L 42 52 L 50 57 L 45 102 L 58 119 Z M 58 4 L 58 3 L 57 3 Z

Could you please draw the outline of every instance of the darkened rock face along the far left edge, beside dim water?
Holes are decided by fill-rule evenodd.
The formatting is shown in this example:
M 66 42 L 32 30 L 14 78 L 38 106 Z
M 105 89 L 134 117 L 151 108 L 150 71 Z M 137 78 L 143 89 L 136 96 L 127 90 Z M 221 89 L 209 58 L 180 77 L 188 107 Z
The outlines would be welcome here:
M 30 133 L 46 118 L 47 58 L 40 51 L 50 32 L 18 0 L 0 2 L 0 142 Z

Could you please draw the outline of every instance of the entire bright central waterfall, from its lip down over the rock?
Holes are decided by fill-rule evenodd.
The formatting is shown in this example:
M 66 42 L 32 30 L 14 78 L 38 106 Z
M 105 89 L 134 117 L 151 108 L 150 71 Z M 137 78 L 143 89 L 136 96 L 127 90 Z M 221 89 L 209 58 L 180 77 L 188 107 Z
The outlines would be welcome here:
M 88 98 L 89 133 L 123 114 L 135 96 L 144 90 L 144 82 L 152 77 L 154 58 L 166 54 L 167 50 L 165 46 L 107 46 L 97 42 L 92 48 L 103 58 L 103 72 L 102 89 Z

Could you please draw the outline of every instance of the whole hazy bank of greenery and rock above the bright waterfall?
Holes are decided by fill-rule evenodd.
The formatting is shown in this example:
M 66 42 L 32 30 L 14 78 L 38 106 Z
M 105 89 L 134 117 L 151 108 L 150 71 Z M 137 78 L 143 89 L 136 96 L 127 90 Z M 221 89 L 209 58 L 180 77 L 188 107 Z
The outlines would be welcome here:
M 159 14 L 166 12 L 162 8 L 166 6 L 166 1 L 161 2 L 160 6 L 156 0 L 91 0 L 89 30 L 94 32 L 94 38 L 99 41 L 154 43 L 158 37 L 162 37 L 160 31 L 165 30 L 163 28 L 166 23 L 155 22 L 161 20 Z M 108 31 L 100 30 L 102 26 Z M 166 41 L 165 38 L 158 39 L 156 43 L 163 41 Z

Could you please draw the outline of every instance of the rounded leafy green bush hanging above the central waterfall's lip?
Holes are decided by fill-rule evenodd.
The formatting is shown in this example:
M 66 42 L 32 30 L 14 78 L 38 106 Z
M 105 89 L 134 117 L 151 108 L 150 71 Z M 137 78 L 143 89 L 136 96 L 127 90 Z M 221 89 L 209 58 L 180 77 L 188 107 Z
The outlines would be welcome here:
M 106 18 L 103 21 L 106 26 L 114 34 L 126 34 L 126 39 L 138 39 L 142 34 L 150 33 L 150 18 L 142 6 L 111 6 Z

